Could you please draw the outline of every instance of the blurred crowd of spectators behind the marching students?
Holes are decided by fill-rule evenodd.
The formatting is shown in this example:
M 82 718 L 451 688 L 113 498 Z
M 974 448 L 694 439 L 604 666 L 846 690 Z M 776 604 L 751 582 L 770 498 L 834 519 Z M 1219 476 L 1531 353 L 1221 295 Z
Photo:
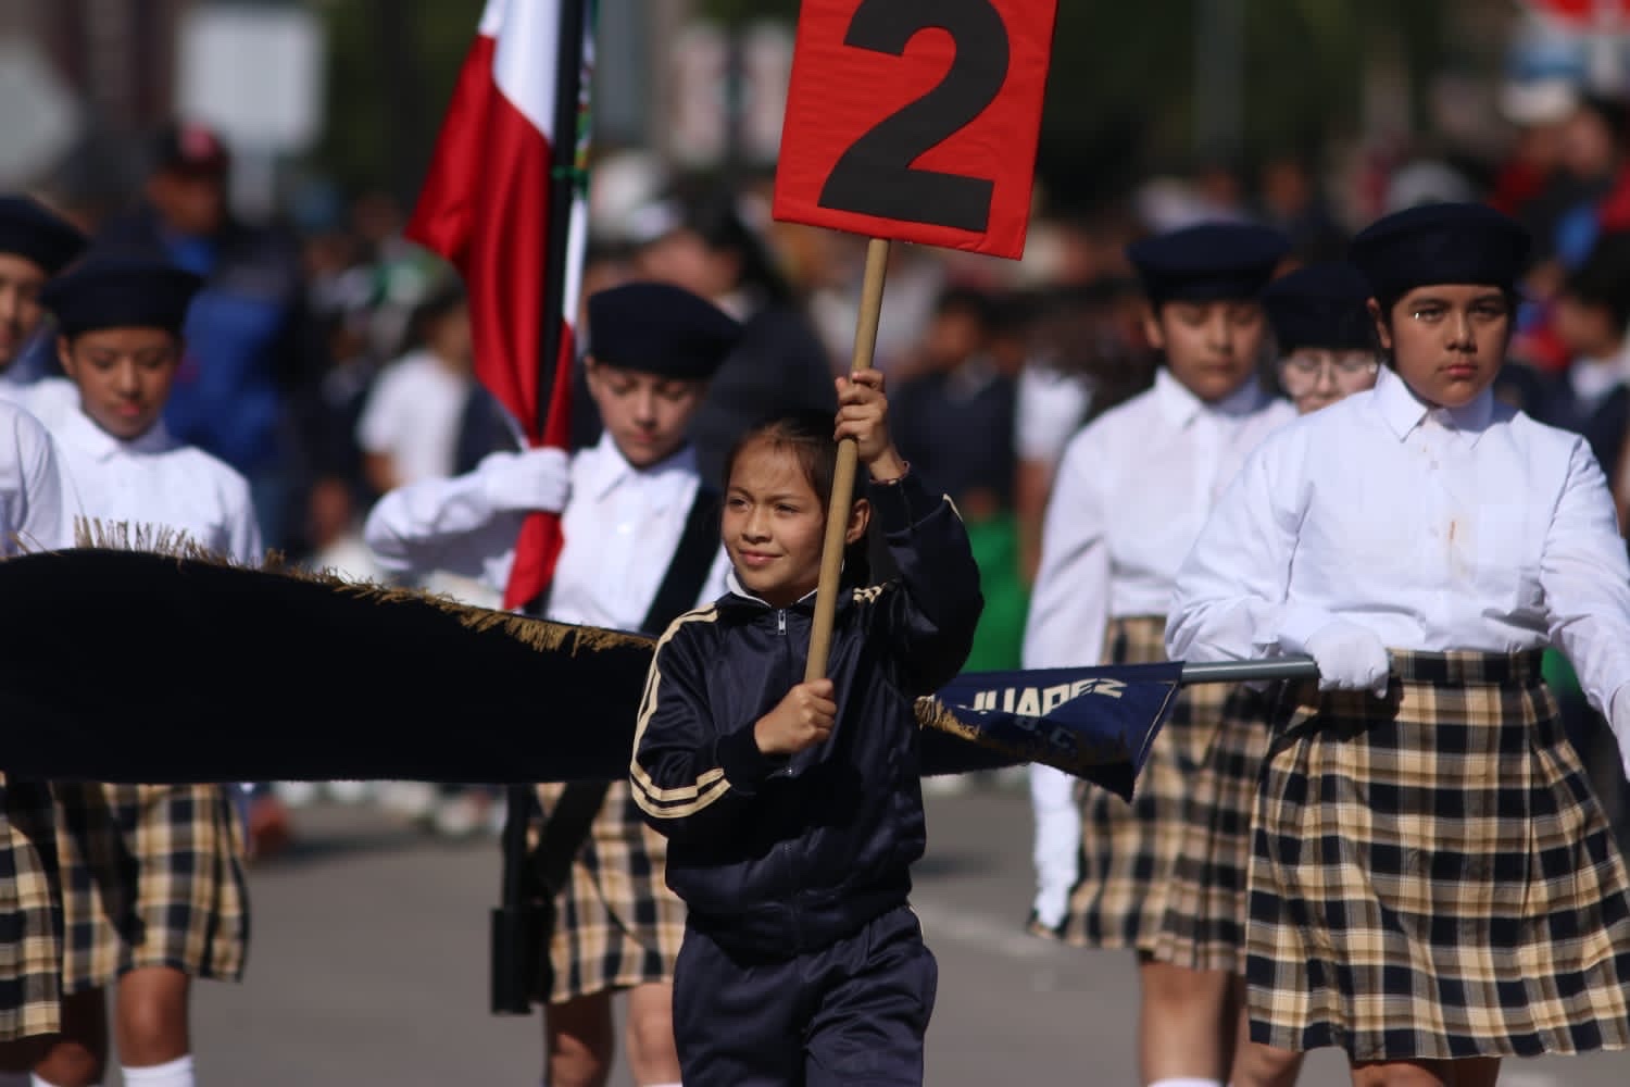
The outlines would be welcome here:
M 469 376 L 456 275 L 403 238 L 481 8 L 0 5 L 0 187 L 101 236 L 158 231 L 210 271 L 189 337 L 218 380 L 186 385 L 170 422 L 240 468 L 269 544 L 315 567 L 378 577 L 359 536 L 378 494 L 507 437 Z M 789 383 L 848 365 L 864 257 L 864 240 L 769 217 L 795 15 L 600 2 L 585 280 L 714 298 Z M 1586 433 L 1630 510 L 1630 5 L 1060 5 L 1024 259 L 895 246 L 879 337 L 898 442 L 975 531 L 991 606 L 970 668 L 1019 663 L 1064 443 L 1152 378 L 1123 246 L 1242 218 L 1327 259 L 1431 200 L 1532 230 L 1503 394 Z M 438 815 L 486 825 L 463 799 Z

